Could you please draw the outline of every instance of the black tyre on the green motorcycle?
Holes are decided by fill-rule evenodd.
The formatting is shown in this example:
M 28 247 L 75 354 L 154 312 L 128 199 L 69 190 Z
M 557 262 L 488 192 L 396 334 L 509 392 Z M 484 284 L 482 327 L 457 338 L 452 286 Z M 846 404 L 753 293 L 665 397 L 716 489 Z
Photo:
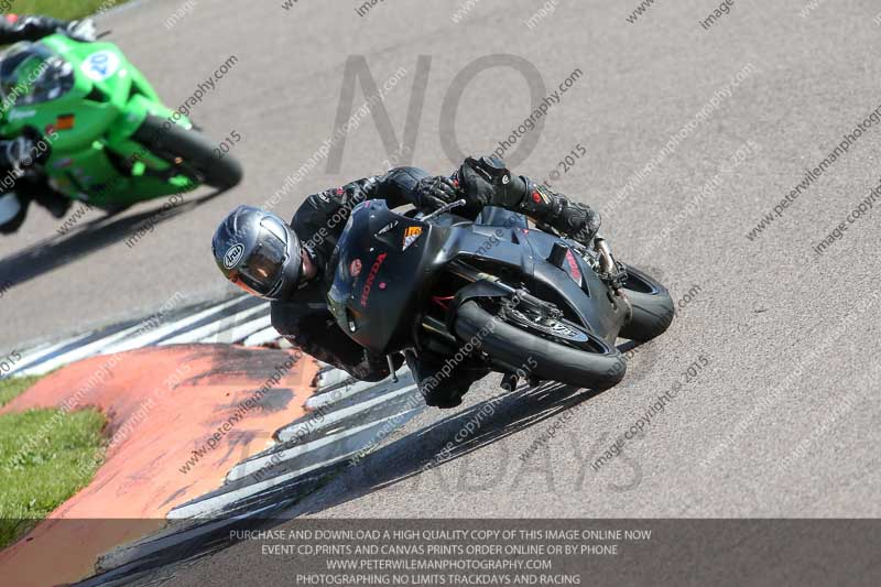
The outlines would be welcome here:
M 194 182 L 218 189 L 229 189 L 241 182 L 242 169 L 230 155 L 215 156 L 217 146 L 204 134 L 177 124 L 167 126 L 167 120 L 148 116 L 134 133 L 134 140 L 150 152 L 180 166 L 183 175 Z

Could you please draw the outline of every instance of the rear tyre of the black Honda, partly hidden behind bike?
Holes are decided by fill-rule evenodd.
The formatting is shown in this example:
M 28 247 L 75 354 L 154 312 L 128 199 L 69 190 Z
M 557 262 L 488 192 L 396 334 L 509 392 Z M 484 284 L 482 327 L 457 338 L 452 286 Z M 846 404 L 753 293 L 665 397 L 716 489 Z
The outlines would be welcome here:
M 648 273 L 627 265 L 627 274 L 623 286 L 633 306 L 633 316 L 618 336 L 638 343 L 651 340 L 662 335 L 673 322 L 673 298 L 667 289 Z

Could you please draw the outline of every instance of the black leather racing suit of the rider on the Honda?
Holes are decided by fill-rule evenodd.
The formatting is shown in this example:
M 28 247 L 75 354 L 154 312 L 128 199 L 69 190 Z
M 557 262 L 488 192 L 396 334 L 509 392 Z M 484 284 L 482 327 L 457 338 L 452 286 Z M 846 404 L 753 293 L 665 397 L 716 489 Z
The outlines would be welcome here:
M 325 294 L 334 275 L 329 263 L 337 238 L 355 206 L 367 199 L 384 199 L 389 208 L 406 204 L 418 207 L 416 184 L 426 177 L 429 175 L 417 167 L 398 167 L 385 175 L 351 182 L 306 198 L 291 226 L 319 273 L 289 301 L 272 303 L 272 324 L 279 333 L 303 351 L 348 371 L 357 379 L 379 381 L 389 377 L 387 359 L 371 355 L 349 338 L 327 309 Z M 527 177 L 512 176 L 499 160 L 469 157 L 450 177 L 457 185 L 474 186 L 467 191 L 479 192 L 477 196 L 466 198 L 469 202 L 467 207 L 456 210 L 460 216 L 475 219 L 485 205 L 492 205 L 524 213 L 541 222 L 553 225 L 556 221 L 564 231 L 572 224 L 567 214 L 586 218 L 589 238 L 599 227 L 598 215 L 588 207 L 569 203 L 564 196 L 546 191 Z M 418 359 L 407 355 L 407 362 L 420 383 L 436 374 L 442 366 L 438 357 L 425 354 Z M 421 384 L 421 389 L 429 405 L 454 406 L 460 403 L 470 384 L 486 373 L 485 368 L 464 361 L 452 376 L 435 378 L 435 385 Z

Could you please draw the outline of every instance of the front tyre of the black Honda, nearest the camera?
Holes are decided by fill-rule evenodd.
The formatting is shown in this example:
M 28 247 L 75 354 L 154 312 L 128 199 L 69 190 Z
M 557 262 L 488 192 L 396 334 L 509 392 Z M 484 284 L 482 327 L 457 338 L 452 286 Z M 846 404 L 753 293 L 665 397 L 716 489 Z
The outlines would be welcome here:
M 494 360 L 497 369 L 529 366 L 531 374 L 543 380 L 606 390 L 621 381 L 627 370 L 618 349 L 592 333 L 581 329 L 586 343 L 580 345 L 581 348 L 575 348 L 563 339 L 539 336 L 519 324 L 502 320 L 475 301 L 459 307 L 454 330 L 466 344 L 477 341 L 478 347 Z

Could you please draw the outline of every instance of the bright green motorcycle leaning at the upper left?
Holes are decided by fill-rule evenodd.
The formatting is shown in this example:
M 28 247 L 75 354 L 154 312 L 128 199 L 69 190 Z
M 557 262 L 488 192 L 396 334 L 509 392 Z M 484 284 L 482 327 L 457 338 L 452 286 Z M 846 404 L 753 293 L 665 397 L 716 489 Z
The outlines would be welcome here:
M 0 137 L 39 138 L 13 172 L 39 174 L 70 199 L 110 211 L 241 181 L 228 150 L 166 107 L 112 43 L 19 43 L 2 56 L 0 80 Z

